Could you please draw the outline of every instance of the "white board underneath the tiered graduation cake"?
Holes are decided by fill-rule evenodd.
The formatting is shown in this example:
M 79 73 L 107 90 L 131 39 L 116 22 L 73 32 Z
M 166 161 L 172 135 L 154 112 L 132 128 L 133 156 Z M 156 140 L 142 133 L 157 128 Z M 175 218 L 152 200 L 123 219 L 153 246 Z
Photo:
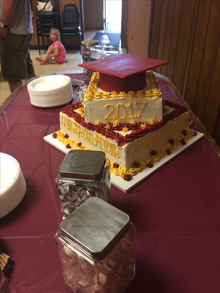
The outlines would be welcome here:
M 189 148 L 191 145 L 193 145 L 195 142 L 197 142 L 199 139 L 201 139 L 204 134 L 200 133 L 198 131 L 195 131 L 197 133 L 196 136 L 192 136 L 189 140 L 187 140 L 187 143 L 185 145 L 180 145 L 178 148 L 172 149 L 172 152 L 170 155 L 164 156 L 159 162 L 154 163 L 153 168 L 146 168 L 142 172 L 137 173 L 135 176 L 132 176 L 132 179 L 130 181 L 124 180 L 120 176 L 115 176 L 113 173 L 111 173 L 111 183 L 115 185 L 120 190 L 123 190 L 124 192 L 130 191 L 132 188 L 137 186 L 140 182 L 145 180 L 147 177 L 152 175 L 154 172 L 156 172 L 158 169 L 163 167 L 166 163 L 171 161 L 173 158 L 181 154 L 183 151 L 185 151 L 187 148 Z M 49 144 L 53 145 L 55 148 L 58 148 L 58 150 L 62 151 L 63 153 L 67 154 L 71 149 L 66 148 L 65 145 L 60 142 L 58 139 L 54 139 L 52 137 L 52 134 L 49 134 L 44 137 L 44 140 L 48 142 Z

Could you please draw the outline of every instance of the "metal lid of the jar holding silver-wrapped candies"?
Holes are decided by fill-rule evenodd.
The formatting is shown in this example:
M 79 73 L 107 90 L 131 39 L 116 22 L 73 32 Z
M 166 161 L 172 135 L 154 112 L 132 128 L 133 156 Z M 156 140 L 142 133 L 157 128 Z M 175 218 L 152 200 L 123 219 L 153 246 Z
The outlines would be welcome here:
M 97 181 L 106 163 L 103 151 L 71 150 L 59 167 L 62 178 Z

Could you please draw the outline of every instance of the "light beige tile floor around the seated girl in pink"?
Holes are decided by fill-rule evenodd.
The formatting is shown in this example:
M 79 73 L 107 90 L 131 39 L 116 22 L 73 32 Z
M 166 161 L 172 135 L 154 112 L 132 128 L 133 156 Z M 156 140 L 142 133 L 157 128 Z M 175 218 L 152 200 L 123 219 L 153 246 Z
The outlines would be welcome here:
M 104 34 L 104 30 L 87 31 L 87 32 L 84 32 L 84 39 L 88 40 L 89 38 L 92 38 L 97 32 L 103 32 Z M 108 32 L 115 33 L 117 31 L 110 30 Z M 105 31 L 105 33 L 108 33 L 108 32 Z M 122 53 L 127 53 L 126 49 L 123 49 L 120 47 L 120 50 Z M 46 51 L 44 52 L 42 50 L 42 55 L 44 53 L 46 53 Z M 52 63 L 48 65 L 40 65 L 40 62 L 36 61 L 35 59 L 36 57 L 39 57 L 38 50 L 30 50 L 30 57 L 33 61 L 33 66 L 37 76 L 40 76 L 42 74 L 57 72 L 57 71 L 69 71 L 69 70 L 82 71 L 82 68 L 78 66 L 78 64 L 82 63 L 80 51 L 78 50 L 68 50 L 65 63 L 63 64 Z M 9 95 L 10 95 L 10 89 L 9 89 L 8 82 L 2 79 L 1 72 L 0 72 L 0 105 Z

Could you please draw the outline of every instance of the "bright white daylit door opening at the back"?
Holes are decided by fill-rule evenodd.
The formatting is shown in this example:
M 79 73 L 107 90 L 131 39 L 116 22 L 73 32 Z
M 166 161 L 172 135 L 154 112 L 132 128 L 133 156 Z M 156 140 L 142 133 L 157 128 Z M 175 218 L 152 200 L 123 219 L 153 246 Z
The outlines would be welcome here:
M 105 32 L 121 32 L 122 0 L 103 0 Z

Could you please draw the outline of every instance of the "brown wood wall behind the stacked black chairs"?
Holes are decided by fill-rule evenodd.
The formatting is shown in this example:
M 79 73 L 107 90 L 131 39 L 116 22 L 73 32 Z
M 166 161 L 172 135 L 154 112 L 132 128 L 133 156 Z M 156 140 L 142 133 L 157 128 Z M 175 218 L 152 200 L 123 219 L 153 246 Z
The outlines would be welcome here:
M 31 40 L 31 44 L 30 44 L 31 46 L 38 45 L 37 32 L 36 32 L 36 22 L 35 22 L 35 12 L 36 12 L 37 1 L 39 1 L 39 0 L 32 0 L 34 19 L 32 19 L 33 36 L 32 36 L 32 40 Z M 69 3 L 76 4 L 76 6 L 77 6 L 77 8 L 79 10 L 79 1 L 78 0 L 58 0 L 59 17 L 60 17 L 61 26 L 63 24 L 62 12 L 64 10 L 64 6 L 65 6 L 65 4 L 69 4 Z M 64 41 L 65 41 L 65 45 L 78 45 L 79 44 L 79 38 L 77 36 L 65 37 Z M 44 42 L 45 42 L 45 45 L 51 45 L 52 44 L 52 41 L 50 40 L 49 37 L 44 37 Z M 43 45 L 41 37 L 40 37 L 40 45 Z

